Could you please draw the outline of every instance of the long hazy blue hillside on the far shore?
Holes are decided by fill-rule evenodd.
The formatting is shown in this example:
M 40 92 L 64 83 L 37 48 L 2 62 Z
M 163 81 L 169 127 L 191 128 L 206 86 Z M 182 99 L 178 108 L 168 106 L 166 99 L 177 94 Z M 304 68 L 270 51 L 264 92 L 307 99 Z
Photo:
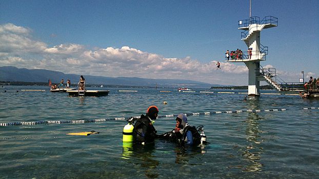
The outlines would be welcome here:
M 77 83 L 80 75 L 64 74 L 62 72 L 50 70 L 29 70 L 18 69 L 14 66 L 0 67 L 0 81 L 23 81 L 23 82 L 47 82 L 49 79 L 52 83 L 59 83 L 61 79 L 65 82 L 67 79 L 71 83 Z M 87 84 L 103 84 L 103 85 L 128 85 L 128 86 L 151 86 L 155 87 L 193 87 L 193 88 L 209 88 L 211 86 L 222 86 L 218 84 L 209 84 L 192 80 L 179 79 L 146 79 L 136 77 L 102 77 L 84 75 Z

